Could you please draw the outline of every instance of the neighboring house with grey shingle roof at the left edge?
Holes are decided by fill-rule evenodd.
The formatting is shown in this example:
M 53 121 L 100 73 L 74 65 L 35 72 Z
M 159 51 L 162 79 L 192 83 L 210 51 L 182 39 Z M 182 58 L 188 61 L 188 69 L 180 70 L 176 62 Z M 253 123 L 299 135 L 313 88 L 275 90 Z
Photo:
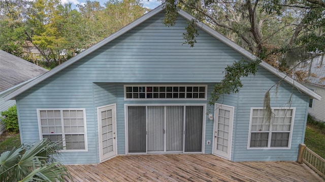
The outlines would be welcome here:
M 0 50 L 0 112 L 16 104 L 15 100 L 5 102 L 4 96 L 45 72 L 40 66 Z M 0 134 L 4 130 L 5 125 L 0 123 Z

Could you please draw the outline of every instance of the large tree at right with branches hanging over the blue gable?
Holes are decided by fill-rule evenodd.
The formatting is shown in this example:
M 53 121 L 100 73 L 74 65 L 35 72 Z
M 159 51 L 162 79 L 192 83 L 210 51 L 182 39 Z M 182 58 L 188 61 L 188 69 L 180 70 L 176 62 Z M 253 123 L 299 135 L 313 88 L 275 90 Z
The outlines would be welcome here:
M 292 74 L 294 64 L 324 54 L 324 3 L 314 0 L 164 0 L 165 24 L 176 23 L 177 11 L 183 9 L 196 19 L 188 23 L 185 42 L 194 46 L 198 36 L 196 21 L 203 21 L 230 39 L 264 59 L 274 67 Z M 280 38 L 279 38 L 280 37 Z M 220 94 L 238 92 L 240 77 L 254 74 L 255 60 L 239 61 L 225 70 L 216 84 L 210 103 Z M 240 68 L 245 68 L 241 70 Z M 234 72 L 240 74 L 233 74 Z M 226 84 L 226 85 L 225 85 Z M 218 90 L 222 90 L 222 92 Z

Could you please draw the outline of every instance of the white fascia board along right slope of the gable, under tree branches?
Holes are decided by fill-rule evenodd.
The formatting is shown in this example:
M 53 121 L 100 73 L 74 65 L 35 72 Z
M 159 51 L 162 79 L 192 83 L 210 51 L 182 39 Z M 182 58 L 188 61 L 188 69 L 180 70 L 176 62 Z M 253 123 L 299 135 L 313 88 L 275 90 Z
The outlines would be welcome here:
M 185 18 L 185 19 L 187 19 L 189 21 L 192 20 L 192 19 L 195 19 L 193 16 L 191 16 L 190 14 L 186 13 L 183 10 L 180 10 L 179 14 L 183 18 Z M 197 26 L 199 28 L 201 28 L 202 30 L 206 31 L 207 33 L 209 33 L 210 35 L 214 36 L 215 38 L 219 39 L 220 41 L 222 41 L 223 43 L 225 43 L 229 47 L 231 47 L 234 50 L 238 51 L 240 54 L 247 57 L 248 59 L 253 60 L 253 61 L 258 59 L 256 56 L 254 56 L 253 54 L 251 54 L 250 52 L 248 52 L 244 48 L 240 47 L 238 44 L 236 44 L 235 42 L 233 42 L 229 38 L 223 36 L 221 33 L 215 31 L 210 26 L 208 26 L 208 25 L 206 25 L 206 24 L 204 24 L 202 22 L 197 22 Z M 265 68 L 266 70 L 268 70 L 271 73 L 275 74 L 276 76 L 280 77 L 281 79 L 285 80 L 289 84 L 295 86 L 300 92 L 303 92 L 303 93 L 307 94 L 308 96 L 310 96 L 310 97 L 312 97 L 314 99 L 317 99 L 317 100 L 321 99 L 321 96 L 319 96 L 318 94 L 313 92 L 311 89 L 307 88 L 306 86 L 304 86 L 303 84 L 301 84 L 298 81 L 294 80 L 293 78 L 287 76 L 286 74 L 284 74 L 282 72 L 279 72 L 278 69 L 274 68 L 273 66 L 271 66 L 267 62 L 262 61 L 259 64 L 259 66 L 262 66 L 263 68 Z

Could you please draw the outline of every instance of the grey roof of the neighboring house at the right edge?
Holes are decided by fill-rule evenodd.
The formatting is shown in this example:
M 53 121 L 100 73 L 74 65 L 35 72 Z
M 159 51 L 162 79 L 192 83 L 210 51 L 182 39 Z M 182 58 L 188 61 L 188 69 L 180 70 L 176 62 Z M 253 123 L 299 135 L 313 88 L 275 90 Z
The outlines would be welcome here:
M 303 78 L 303 82 L 325 87 L 325 56 L 319 56 L 308 60 L 296 70 L 303 71 L 308 75 Z

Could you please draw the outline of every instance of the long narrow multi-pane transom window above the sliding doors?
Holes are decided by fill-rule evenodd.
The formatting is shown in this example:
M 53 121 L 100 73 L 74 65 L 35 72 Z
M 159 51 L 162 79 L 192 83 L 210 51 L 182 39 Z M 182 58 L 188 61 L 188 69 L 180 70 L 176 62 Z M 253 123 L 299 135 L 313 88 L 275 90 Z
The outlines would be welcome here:
M 207 85 L 125 85 L 124 96 L 126 100 L 205 100 Z

